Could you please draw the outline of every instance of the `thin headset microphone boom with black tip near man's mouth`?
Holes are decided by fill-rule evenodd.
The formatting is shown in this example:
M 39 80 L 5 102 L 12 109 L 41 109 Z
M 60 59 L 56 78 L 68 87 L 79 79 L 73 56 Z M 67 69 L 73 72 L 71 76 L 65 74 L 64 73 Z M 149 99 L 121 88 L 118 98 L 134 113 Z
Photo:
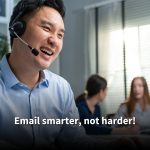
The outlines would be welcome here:
M 13 31 L 13 33 L 15 34 L 15 36 L 22 42 L 24 43 L 26 46 L 28 46 L 29 49 L 31 49 L 31 52 L 34 56 L 37 56 L 39 54 L 39 51 L 36 48 L 31 47 L 27 42 L 25 42 L 16 32 L 15 30 L 10 27 L 9 28 L 11 31 Z

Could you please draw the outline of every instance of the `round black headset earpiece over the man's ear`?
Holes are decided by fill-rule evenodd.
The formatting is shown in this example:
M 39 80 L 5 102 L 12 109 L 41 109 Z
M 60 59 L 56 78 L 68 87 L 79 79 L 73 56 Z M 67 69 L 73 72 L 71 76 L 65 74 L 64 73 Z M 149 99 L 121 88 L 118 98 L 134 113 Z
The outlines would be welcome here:
M 17 35 L 21 36 L 25 32 L 25 29 L 26 29 L 25 21 L 17 21 L 9 28 L 10 36 L 12 38 L 16 38 L 14 31 L 17 33 Z

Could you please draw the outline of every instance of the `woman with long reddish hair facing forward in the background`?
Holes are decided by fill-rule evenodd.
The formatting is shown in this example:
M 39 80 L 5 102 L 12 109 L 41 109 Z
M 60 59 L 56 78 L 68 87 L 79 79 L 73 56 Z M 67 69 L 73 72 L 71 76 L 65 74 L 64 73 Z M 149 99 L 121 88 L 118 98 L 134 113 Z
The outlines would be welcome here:
M 135 77 L 131 82 L 129 98 L 121 104 L 115 118 L 135 117 L 140 130 L 150 130 L 150 96 L 144 77 Z M 118 127 L 118 125 L 116 125 Z

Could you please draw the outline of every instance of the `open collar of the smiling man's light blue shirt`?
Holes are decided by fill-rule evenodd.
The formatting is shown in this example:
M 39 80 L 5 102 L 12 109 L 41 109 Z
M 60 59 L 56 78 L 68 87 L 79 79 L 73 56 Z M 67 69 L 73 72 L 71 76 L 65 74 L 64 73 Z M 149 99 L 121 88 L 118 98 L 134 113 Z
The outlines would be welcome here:
M 14 75 L 8 64 L 7 55 L 5 55 L 0 62 L 0 70 L 2 72 L 2 77 L 4 79 L 6 87 L 12 88 L 13 86 L 20 83 L 20 81 L 16 78 L 16 76 Z M 39 84 L 48 87 L 49 81 L 48 81 L 48 74 L 46 73 L 46 71 L 41 71 L 40 76 L 41 80 Z

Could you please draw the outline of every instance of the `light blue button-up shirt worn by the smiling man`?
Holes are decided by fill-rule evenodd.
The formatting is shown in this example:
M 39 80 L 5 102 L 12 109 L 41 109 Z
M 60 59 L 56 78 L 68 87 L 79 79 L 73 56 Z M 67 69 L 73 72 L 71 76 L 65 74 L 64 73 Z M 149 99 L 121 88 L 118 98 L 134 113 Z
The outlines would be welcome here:
M 30 90 L 12 72 L 6 56 L 0 62 L 0 141 L 21 146 L 50 146 L 75 142 L 84 135 L 78 125 L 15 124 L 15 117 L 33 119 L 79 118 L 70 85 L 62 77 L 41 71 L 41 80 Z

